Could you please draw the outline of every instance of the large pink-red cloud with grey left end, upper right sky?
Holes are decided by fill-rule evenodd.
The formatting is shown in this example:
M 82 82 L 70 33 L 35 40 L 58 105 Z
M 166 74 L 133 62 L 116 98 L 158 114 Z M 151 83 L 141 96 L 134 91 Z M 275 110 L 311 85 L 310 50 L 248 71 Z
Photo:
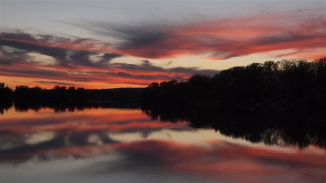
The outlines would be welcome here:
M 315 59 L 320 53 L 312 48 L 325 48 L 326 41 L 326 19 L 320 10 L 208 19 L 178 25 L 103 22 L 75 25 L 116 39 L 118 43 L 114 48 L 120 54 L 142 58 L 209 54 L 210 59 L 227 59 L 275 50 L 310 49 L 304 58 Z

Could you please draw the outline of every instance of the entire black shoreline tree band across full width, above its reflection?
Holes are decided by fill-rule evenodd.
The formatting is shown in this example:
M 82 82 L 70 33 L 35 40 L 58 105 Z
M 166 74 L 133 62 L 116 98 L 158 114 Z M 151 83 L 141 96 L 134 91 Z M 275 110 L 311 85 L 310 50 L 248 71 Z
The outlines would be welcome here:
M 83 103 L 85 101 L 142 101 L 145 106 L 282 111 L 325 109 L 326 58 L 252 63 L 232 67 L 215 76 L 195 75 L 186 81 L 151 83 L 146 88 L 43 89 L 19 85 L 14 90 L 0 83 L 0 102 Z

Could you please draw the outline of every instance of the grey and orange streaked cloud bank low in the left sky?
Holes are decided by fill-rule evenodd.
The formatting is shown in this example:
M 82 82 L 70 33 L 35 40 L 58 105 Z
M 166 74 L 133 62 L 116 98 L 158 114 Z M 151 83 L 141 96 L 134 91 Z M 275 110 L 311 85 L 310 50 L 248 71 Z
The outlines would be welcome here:
M 0 65 L 3 67 L 0 71 L 3 76 L 50 80 L 43 82 L 47 86 L 59 82 L 83 86 L 98 83 L 100 87 L 105 87 L 105 83 L 146 86 L 153 81 L 184 80 L 192 74 L 217 72 L 199 67 L 164 68 L 155 66 L 150 61 L 142 61 L 138 65 L 116 63 L 112 60 L 123 56 L 122 54 L 108 52 L 100 46 L 103 43 L 90 43 L 88 47 L 83 47 L 84 44 L 85 39 L 73 40 L 21 32 L 1 33 Z M 34 80 L 33 83 L 37 81 Z

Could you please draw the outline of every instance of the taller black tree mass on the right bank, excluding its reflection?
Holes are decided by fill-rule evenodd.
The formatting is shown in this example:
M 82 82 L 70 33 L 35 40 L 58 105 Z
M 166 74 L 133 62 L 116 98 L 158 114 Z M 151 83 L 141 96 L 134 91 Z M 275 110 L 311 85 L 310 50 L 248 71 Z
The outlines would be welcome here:
M 326 58 L 283 60 L 232 67 L 215 76 L 151 83 L 142 92 L 148 107 L 226 109 L 243 112 L 326 109 Z

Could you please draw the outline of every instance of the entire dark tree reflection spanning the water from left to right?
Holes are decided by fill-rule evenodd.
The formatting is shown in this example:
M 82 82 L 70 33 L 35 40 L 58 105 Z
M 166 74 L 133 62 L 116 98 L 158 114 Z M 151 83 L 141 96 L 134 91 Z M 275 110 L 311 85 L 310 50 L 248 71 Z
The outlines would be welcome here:
M 8 110 L 12 103 L 2 103 L 0 112 Z M 31 105 L 15 103 L 16 111 L 39 111 L 50 108 L 55 112 L 82 111 L 90 108 L 131 108 L 139 103 L 84 103 L 75 105 Z M 242 138 L 250 142 L 263 142 L 270 145 L 297 146 L 301 148 L 316 145 L 326 147 L 325 121 L 322 114 L 312 116 L 307 113 L 285 111 L 282 114 L 244 114 L 239 111 L 209 111 L 179 106 L 142 106 L 144 114 L 152 120 L 162 122 L 187 121 L 194 128 L 211 128 L 225 136 Z

